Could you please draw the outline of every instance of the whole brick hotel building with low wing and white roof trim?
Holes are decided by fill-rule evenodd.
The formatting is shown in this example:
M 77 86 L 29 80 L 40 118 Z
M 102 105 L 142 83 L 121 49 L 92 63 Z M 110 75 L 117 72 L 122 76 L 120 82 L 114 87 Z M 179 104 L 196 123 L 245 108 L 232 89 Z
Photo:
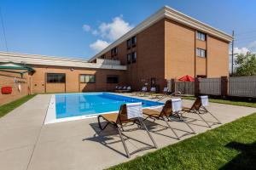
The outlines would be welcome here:
M 89 60 L 1 52 L 0 63 L 32 67 L 25 76 L 31 93 L 138 89 L 145 83 L 162 89 L 167 79 L 184 75 L 228 76 L 232 38 L 165 6 Z

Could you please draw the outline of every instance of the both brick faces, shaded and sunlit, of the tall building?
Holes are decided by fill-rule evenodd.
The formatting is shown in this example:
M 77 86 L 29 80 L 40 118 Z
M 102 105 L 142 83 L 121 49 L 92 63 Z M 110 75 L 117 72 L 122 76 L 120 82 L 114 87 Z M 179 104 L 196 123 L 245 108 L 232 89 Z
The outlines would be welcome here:
M 185 75 L 228 76 L 229 43 L 210 36 L 207 41 L 197 40 L 195 33 L 195 29 L 163 19 L 137 34 L 136 48 L 127 49 L 126 41 L 121 42 L 115 59 L 122 65 L 127 64 L 127 54 L 137 51 L 137 63 L 127 65 L 127 85 L 138 90 L 145 82 L 150 85 L 151 77 L 156 77 L 162 89 L 166 85 L 165 79 Z M 196 48 L 206 49 L 207 58 L 195 56 Z M 111 52 L 105 56 L 111 59 Z

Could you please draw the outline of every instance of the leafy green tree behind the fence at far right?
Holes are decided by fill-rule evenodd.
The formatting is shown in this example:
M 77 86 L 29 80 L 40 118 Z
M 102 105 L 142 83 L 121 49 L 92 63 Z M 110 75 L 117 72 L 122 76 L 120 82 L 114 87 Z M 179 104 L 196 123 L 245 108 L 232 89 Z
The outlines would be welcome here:
M 249 77 L 256 76 L 256 54 L 238 54 L 235 60 L 236 68 L 234 76 Z

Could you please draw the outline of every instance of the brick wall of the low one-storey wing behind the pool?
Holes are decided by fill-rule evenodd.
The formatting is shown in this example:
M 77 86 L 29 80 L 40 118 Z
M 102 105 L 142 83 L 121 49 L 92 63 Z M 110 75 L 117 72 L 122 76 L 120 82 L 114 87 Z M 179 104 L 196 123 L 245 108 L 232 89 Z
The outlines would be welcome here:
M 36 71 L 32 76 L 32 93 L 72 93 L 72 92 L 91 92 L 109 91 L 117 85 L 125 85 L 125 71 L 86 69 L 61 66 L 32 65 Z M 65 73 L 66 83 L 47 83 L 47 73 Z M 96 83 L 79 83 L 80 74 L 96 75 Z M 107 83 L 107 75 L 119 76 L 118 84 Z

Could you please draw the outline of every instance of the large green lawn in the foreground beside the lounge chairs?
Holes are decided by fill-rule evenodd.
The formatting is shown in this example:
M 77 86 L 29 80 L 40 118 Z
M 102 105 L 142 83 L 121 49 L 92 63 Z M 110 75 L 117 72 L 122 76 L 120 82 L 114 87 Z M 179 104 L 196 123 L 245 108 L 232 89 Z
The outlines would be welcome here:
M 109 169 L 255 169 L 256 113 Z

